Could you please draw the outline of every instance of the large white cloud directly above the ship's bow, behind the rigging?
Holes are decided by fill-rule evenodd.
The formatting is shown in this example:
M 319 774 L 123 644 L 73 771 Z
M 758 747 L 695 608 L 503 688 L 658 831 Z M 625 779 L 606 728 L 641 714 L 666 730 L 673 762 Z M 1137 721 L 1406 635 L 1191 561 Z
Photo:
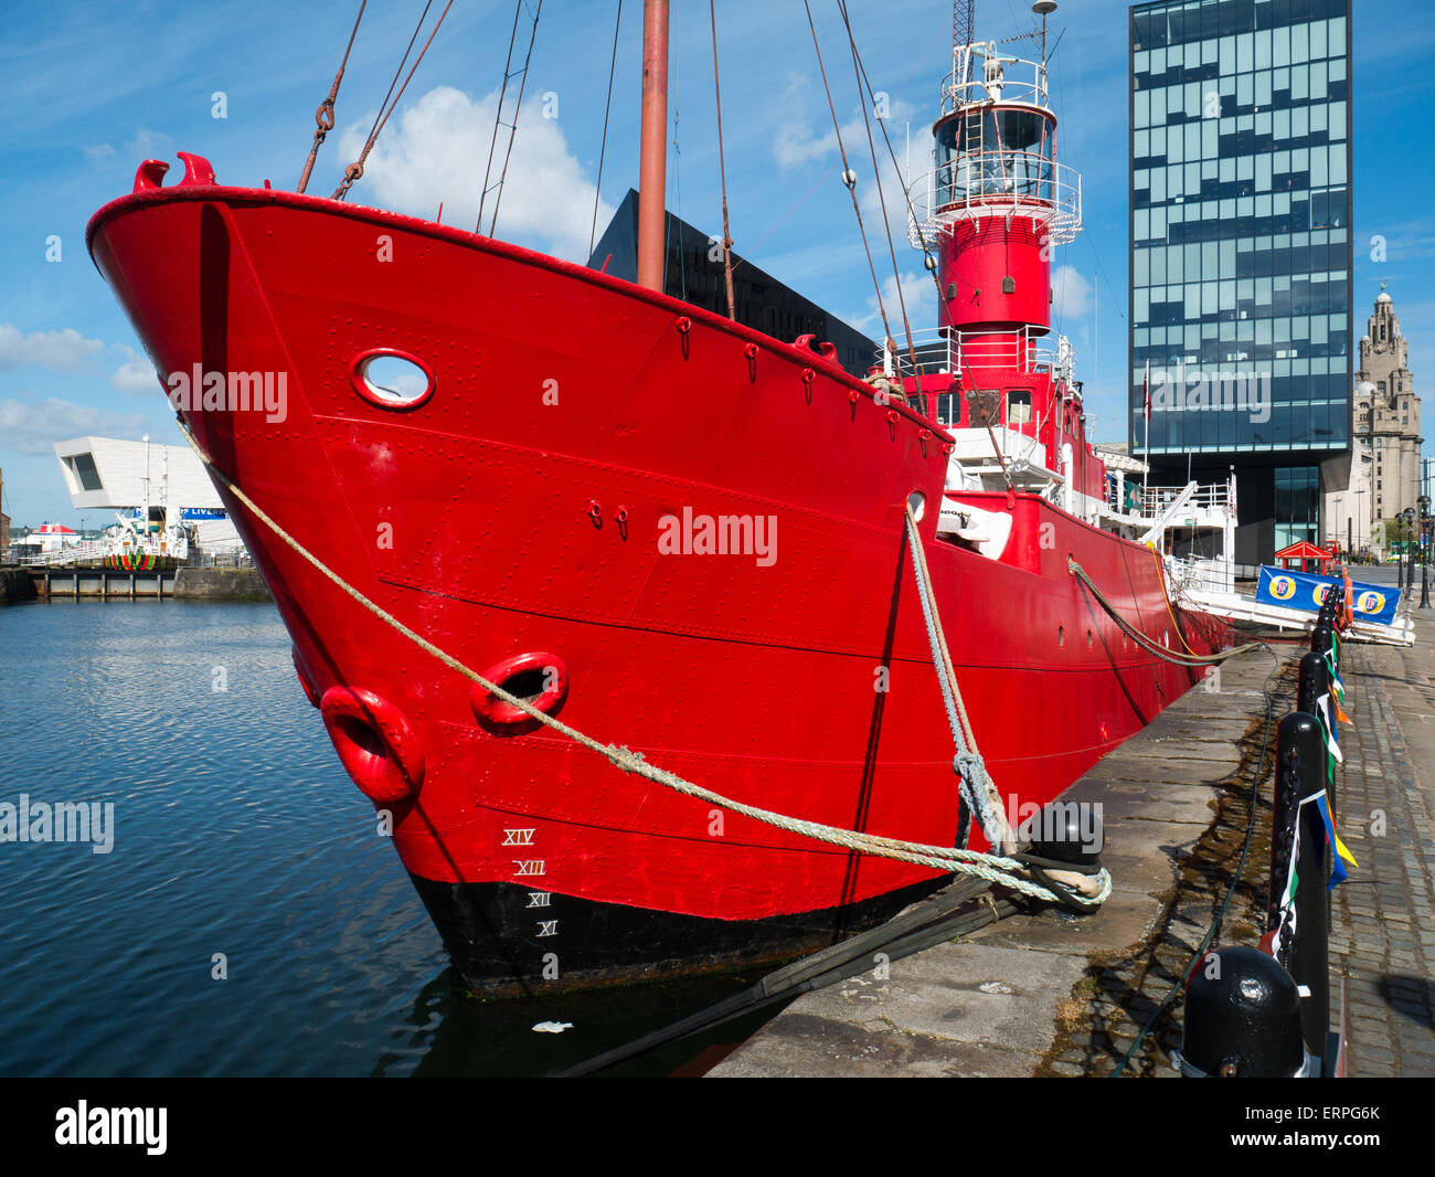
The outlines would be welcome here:
M 390 121 L 369 154 L 363 178 L 350 198 L 428 218 L 443 201 L 445 224 L 472 228 L 478 220 L 497 105 L 497 90 L 476 100 L 452 86 L 429 90 Z M 372 116 L 343 132 L 340 151 L 344 158 L 359 156 L 370 122 Z M 489 184 L 498 179 L 505 146 L 507 133 L 499 128 Z M 495 234 L 570 261 L 587 261 L 593 195 L 594 185 L 568 151 L 558 121 L 542 116 L 541 98 L 525 102 L 518 115 Z M 494 198 L 495 192 L 489 192 L 485 233 Z M 598 207 L 598 233 L 611 215 L 613 205 L 604 201 Z

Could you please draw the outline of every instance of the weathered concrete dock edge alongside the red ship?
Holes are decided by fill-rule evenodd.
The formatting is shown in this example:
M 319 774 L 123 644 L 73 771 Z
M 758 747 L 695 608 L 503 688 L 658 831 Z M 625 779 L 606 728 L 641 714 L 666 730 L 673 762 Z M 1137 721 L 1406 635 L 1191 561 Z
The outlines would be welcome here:
M 1101 801 L 1114 877 L 1095 916 L 1013 916 L 852 980 L 808 993 L 709 1074 L 956 1077 L 1109 1074 L 1180 976 L 1230 883 L 1264 731 L 1267 683 L 1289 711 L 1299 646 L 1225 663 L 1065 794 Z M 1284 709 L 1284 711 L 1283 711 Z M 1274 733 L 1266 754 L 1266 777 Z M 1000 782 L 999 782 L 1000 784 Z M 1269 824 L 1269 821 L 1267 821 Z M 1269 851 L 1253 848 L 1225 936 L 1258 937 Z M 1162 1025 L 1164 1023 L 1164 1025 Z M 1167 1016 L 1135 1059 L 1172 1075 Z

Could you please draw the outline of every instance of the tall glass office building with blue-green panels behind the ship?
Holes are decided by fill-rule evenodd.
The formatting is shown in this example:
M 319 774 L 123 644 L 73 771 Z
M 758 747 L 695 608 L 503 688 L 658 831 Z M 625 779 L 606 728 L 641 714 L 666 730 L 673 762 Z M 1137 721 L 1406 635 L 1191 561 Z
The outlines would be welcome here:
M 1350 462 L 1349 0 L 1131 10 L 1131 445 L 1237 469 L 1236 558 L 1319 540 Z

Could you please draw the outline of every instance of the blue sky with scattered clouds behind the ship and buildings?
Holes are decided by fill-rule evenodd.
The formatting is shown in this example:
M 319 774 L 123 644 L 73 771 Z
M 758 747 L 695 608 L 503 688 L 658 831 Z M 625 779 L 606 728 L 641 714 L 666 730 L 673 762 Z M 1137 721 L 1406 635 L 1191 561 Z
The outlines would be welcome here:
M 387 89 L 420 0 L 372 0 L 343 89 L 337 126 L 310 191 L 327 194 Z M 435 3 L 438 11 L 442 3 Z M 669 207 L 720 231 L 707 4 L 673 0 Z M 949 69 L 949 0 L 851 0 L 872 85 L 891 96 L 898 155 L 910 122 L 914 171 L 926 156 Z M 17 524 L 77 525 L 50 444 L 80 433 L 177 442 L 133 333 L 85 251 L 85 222 L 128 192 L 148 156 L 194 151 L 222 184 L 297 182 L 357 3 L 69 3 L 0 0 L 0 469 Z M 514 172 L 497 235 L 584 255 L 593 212 L 616 0 L 547 0 L 519 116 Z M 831 0 L 812 0 L 854 168 L 871 177 L 845 32 Z M 1065 303 L 1058 329 L 1081 352 L 1088 408 L 1102 441 L 1122 439 L 1126 352 L 1126 11 L 1119 0 L 1066 0 L 1052 36 L 1052 100 L 1063 161 L 1083 175 L 1086 228 L 1058 251 Z M 512 26 L 509 0 L 455 0 L 429 56 L 352 200 L 472 224 Z M 624 0 L 603 178 L 604 212 L 637 177 L 641 0 Z M 977 33 L 1032 26 L 1026 0 L 979 0 Z M 736 250 L 808 297 L 872 326 L 874 296 L 839 164 L 802 4 L 722 0 L 728 191 Z M 422 42 L 420 42 L 422 43 Z M 1393 0 L 1355 3 L 1355 322 L 1382 278 L 1411 339 L 1416 392 L 1435 389 L 1435 227 L 1426 126 L 1435 27 Z M 225 118 L 214 118 L 222 92 Z M 548 103 L 544 118 L 542 103 Z M 881 151 L 881 142 L 878 141 Z M 178 164 L 177 164 L 178 167 Z M 875 201 L 874 185 L 860 185 Z M 900 194 L 887 189 L 888 204 Z M 603 217 L 598 231 L 603 230 Z M 874 253 L 885 258 L 880 218 Z M 1370 238 L 1386 238 L 1386 260 Z M 52 238 L 59 237 L 59 260 Z M 920 255 L 898 240 L 914 326 L 931 322 Z M 893 286 L 890 261 L 880 277 Z M 1098 327 L 1099 322 L 1099 327 Z M 92 512 L 93 514 L 93 512 Z M 88 520 L 90 525 L 102 520 Z

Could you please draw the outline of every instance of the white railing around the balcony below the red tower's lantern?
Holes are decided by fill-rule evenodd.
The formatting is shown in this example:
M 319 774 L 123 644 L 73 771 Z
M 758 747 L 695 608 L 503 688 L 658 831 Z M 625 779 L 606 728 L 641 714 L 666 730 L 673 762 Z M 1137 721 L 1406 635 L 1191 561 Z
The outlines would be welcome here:
M 907 240 L 934 248 L 957 221 L 1027 217 L 1043 227 L 1048 245 L 1081 233 L 1081 172 L 1026 151 L 960 155 L 911 182 Z

